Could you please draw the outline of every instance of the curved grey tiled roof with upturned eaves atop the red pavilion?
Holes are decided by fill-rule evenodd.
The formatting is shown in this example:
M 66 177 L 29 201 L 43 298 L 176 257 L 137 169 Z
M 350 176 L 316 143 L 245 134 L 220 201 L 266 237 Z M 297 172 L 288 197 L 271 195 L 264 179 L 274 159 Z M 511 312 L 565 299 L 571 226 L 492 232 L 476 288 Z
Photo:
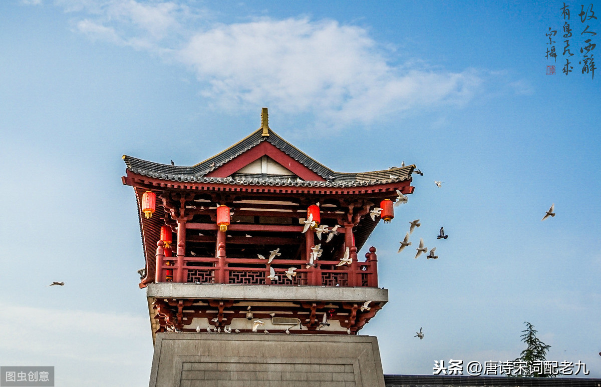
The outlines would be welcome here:
M 293 187 L 357 187 L 396 183 L 408 180 L 415 168 L 415 165 L 409 165 L 403 168 L 391 168 L 383 171 L 358 173 L 335 172 L 298 150 L 294 145 L 276 135 L 273 130 L 269 129 L 269 136 L 261 136 L 261 133 L 261 129 L 258 129 L 230 148 L 194 166 L 165 165 L 131 156 L 123 156 L 123 160 L 126 163 L 127 169 L 135 174 L 158 178 L 160 180 Z M 262 141 L 269 142 L 294 160 L 323 177 L 326 181 L 305 181 L 300 178 L 282 177 L 280 175 L 257 175 L 256 177 L 245 175 L 236 178 L 206 177 L 206 174 L 209 172 L 240 156 L 240 154 L 257 146 Z

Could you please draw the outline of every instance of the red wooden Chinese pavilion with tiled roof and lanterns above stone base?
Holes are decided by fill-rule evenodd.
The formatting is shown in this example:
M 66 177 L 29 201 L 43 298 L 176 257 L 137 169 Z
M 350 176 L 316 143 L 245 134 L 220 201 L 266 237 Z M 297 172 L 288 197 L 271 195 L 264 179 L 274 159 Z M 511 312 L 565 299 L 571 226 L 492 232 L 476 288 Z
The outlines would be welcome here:
M 291 334 L 279 335 L 281 343 L 350 338 L 388 301 L 376 248 L 365 249 L 364 259 L 358 252 L 380 220 L 394 217 L 396 191 L 413 192 L 414 165 L 332 171 L 273 132 L 266 108 L 258 130 L 197 165 L 123 159 L 123 184 L 138 204 L 139 285 L 155 340 L 227 336 L 224 343 L 240 343 L 267 332 L 261 342 L 274 334 Z M 180 363 L 173 372 L 185 380 L 188 366 Z M 154 366 L 153 377 L 160 385 Z

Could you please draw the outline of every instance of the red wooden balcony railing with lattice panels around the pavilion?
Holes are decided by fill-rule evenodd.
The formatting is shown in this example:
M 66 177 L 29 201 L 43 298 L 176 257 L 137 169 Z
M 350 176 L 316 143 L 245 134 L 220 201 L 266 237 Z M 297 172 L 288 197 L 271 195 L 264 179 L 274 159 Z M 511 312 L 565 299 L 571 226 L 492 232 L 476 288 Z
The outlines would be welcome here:
M 221 246 L 220 246 L 221 247 Z M 218 249 L 219 250 L 222 249 Z M 315 267 L 305 268 L 305 260 L 274 259 L 270 264 L 258 258 L 165 257 L 163 242 L 157 243 L 155 282 L 195 282 L 198 284 L 316 285 L 377 287 L 376 248 L 357 260 L 356 248 L 350 248 L 352 263 L 337 266 L 340 261 L 317 260 Z M 178 252 L 183 252 L 178 246 Z M 273 267 L 277 281 L 267 278 Z M 288 267 L 296 267 L 296 276 L 288 279 Z

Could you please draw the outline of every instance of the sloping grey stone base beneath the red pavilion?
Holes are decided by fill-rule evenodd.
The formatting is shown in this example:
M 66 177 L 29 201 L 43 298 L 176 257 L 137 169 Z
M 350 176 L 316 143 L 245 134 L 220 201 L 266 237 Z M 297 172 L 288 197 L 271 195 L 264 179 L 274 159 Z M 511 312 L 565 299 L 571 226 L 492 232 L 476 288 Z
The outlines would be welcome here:
M 157 334 L 150 387 L 385 387 L 376 337 Z

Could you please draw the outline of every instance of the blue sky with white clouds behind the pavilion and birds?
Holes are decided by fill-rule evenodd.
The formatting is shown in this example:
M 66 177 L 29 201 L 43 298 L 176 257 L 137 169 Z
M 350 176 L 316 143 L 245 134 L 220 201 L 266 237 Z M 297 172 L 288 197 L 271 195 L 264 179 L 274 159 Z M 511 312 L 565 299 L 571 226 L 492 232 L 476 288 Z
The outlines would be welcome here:
M 529 321 L 549 360 L 601 377 L 601 70 L 581 74 L 584 3 L 569 4 L 565 76 L 562 55 L 545 58 L 563 2 L 2 2 L 0 365 L 55 365 L 63 386 L 147 385 L 121 155 L 193 165 L 257 129 L 266 106 L 275 132 L 332 169 L 424 172 L 367 243 L 390 300 L 361 332 L 379 338 L 385 373 L 514 359 Z M 436 261 L 396 254 L 417 218 L 412 241 Z

